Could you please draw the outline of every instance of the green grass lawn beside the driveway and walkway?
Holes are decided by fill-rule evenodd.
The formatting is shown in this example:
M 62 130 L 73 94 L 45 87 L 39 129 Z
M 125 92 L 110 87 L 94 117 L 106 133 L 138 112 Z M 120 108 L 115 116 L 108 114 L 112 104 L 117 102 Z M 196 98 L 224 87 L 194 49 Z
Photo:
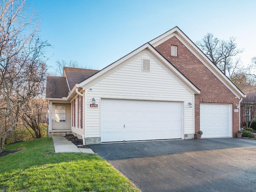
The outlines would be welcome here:
M 108 162 L 95 154 L 54 153 L 52 138 L 8 145 L 24 148 L 0 157 L 2 192 L 139 192 Z

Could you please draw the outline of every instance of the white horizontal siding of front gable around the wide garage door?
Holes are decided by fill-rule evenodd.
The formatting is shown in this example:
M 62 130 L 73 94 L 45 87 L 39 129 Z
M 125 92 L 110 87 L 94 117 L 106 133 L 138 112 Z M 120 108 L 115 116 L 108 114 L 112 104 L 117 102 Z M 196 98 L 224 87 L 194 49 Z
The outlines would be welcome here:
M 150 72 L 142 71 L 142 59 L 150 60 Z M 148 51 L 90 88 L 93 91 L 86 92 L 87 102 L 84 102 L 87 108 L 87 137 L 101 136 L 100 100 L 103 98 L 183 102 L 184 134 L 194 133 L 193 108 L 187 105 L 188 102 L 193 103 L 194 95 Z M 92 98 L 95 98 L 98 108 L 89 108 Z

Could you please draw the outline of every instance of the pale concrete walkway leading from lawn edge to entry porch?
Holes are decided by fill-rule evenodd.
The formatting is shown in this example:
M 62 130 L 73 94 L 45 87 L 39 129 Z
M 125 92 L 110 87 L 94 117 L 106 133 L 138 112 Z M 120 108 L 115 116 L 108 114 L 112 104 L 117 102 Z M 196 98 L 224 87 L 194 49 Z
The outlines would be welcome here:
M 55 153 L 94 153 L 90 148 L 78 148 L 65 137 L 52 137 Z

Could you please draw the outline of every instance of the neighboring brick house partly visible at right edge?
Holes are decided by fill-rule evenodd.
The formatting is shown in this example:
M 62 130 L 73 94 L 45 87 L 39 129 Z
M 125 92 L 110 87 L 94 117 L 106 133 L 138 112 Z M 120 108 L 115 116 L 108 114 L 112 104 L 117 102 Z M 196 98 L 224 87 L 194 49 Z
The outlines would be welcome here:
M 240 103 L 240 126 L 247 128 L 248 122 L 256 120 L 256 86 L 242 84 L 236 86 L 246 94 L 246 98 Z

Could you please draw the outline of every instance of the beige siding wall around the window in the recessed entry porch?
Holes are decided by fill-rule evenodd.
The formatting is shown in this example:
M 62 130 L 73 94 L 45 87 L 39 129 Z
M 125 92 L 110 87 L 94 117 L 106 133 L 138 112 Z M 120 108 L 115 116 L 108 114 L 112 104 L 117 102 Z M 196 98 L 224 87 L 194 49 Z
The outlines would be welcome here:
M 65 122 L 56 122 L 55 120 L 55 112 L 56 106 L 65 106 L 66 108 L 66 121 Z M 57 107 L 58 110 L 58 107 Z M 71 105 L 70 104 L 52 104 L 52 130 L 65 130 L 71 128 Z

